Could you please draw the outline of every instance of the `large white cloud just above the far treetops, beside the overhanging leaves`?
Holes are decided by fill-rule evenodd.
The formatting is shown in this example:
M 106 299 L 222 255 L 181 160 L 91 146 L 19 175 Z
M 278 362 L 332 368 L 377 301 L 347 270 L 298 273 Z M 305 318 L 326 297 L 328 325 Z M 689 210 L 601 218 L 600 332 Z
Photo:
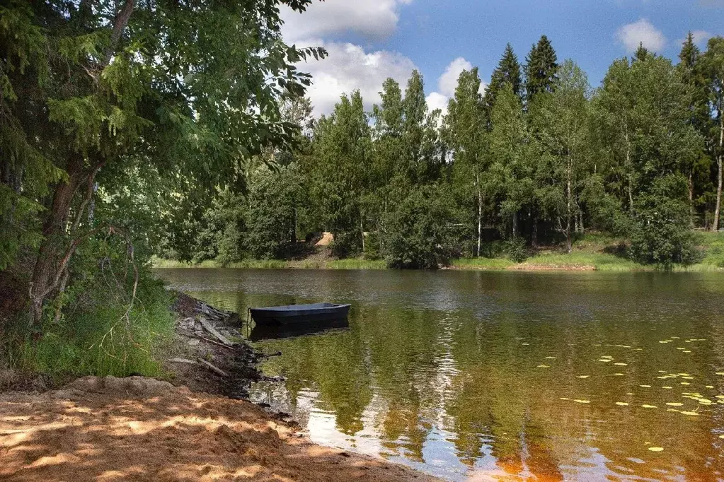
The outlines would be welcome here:
M 321 40 L 308 45 L 319 45 L 327 49 L 329 56 L 321 61 L 313 59 L 300 64 L 303 72 L 312 74 L 312 86 L 307 95 L 312 100 L 314 115 L 329 114 L 334 104 L 340 101 L 342 94 L 359 90 L 365 108 L 371 110 L 372 104 L 380 103 L 379 91 L 382 82 L 392 77 L 404 85 L 410 74 L 416 69 L 413 61 L 397 52 L 366 52 L 361 46 L 352 43 L 327 43 Z

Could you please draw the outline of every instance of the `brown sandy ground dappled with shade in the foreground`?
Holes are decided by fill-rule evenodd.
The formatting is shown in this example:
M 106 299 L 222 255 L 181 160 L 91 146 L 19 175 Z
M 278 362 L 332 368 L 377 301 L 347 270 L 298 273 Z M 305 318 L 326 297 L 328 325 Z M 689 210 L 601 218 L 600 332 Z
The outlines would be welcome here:
M 88 376 L 0 395 L 0 479 L 425 481 L 384 460 L 311 444 L 243 400 L 140 376 Z

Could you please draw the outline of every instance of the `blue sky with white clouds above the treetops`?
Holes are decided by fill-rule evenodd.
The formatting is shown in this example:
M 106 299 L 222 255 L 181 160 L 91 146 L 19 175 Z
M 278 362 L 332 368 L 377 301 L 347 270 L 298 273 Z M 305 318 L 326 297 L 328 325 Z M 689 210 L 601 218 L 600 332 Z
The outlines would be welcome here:
M 287 43 L 329 52 L 301 66 L 314 77 L 317 115 L 355 89 L 371 108 L 384 79 L 404 85 L 413 69 L 424 75 L 429 106 L 444 108 L 461 70 L 478 66 L 488 82 L 505 43 L 523 62 L 542 34 L 594 86 L 639 42 L 675 59 L 689 30 L 701 46 L 724 35 L 724 0 L 326 0 L 283 16 Z

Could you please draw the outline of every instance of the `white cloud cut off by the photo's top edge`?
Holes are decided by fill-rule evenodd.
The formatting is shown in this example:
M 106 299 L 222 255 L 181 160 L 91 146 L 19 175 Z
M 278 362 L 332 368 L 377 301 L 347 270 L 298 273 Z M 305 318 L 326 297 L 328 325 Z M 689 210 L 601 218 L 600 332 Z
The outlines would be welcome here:
M 412 0 L 328 0 L 314 1 L 299 14 L 283 7 L 282 27 L 287 43 L 324 37 L 333 33 L 354 32 L 381 39 L 392 34 L 400 20 L 400 5 Z

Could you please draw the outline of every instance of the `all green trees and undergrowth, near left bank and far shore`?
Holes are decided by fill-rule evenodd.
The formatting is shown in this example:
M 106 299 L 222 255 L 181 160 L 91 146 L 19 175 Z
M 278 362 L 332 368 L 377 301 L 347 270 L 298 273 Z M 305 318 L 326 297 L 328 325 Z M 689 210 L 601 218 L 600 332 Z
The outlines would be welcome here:
M 543 36 L 487 88 L 460 74 L 446 113 L 412 72 L 313 119 L 304 61 L 327 53 L 287 46 L 279 17 L 310 3 L 3 2 L 5 358 L 153 374 L 153 257 L 287 259 L 328 231 L 340 259 L 435 268 L 600 232 L 670 269 L 720 228 L 724 38 L 689 35 L 676 63 L 642 46 L 594 88 Z

